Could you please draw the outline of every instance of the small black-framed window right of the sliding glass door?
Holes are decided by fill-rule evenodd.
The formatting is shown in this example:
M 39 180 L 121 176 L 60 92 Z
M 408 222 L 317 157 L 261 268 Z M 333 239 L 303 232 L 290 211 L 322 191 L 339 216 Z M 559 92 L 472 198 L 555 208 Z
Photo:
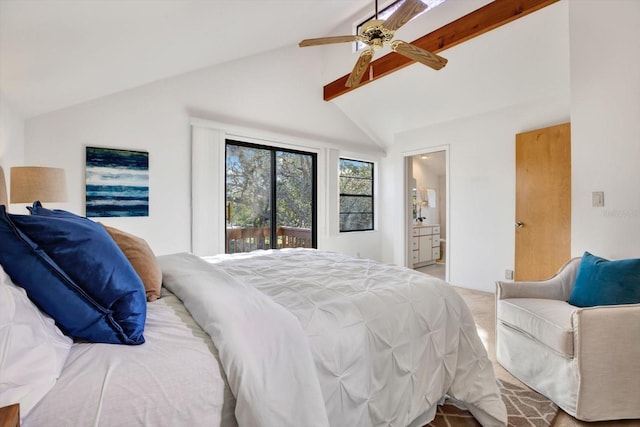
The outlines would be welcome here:
M 373 163 L 340 159 L 340 231 L 373 230 Z

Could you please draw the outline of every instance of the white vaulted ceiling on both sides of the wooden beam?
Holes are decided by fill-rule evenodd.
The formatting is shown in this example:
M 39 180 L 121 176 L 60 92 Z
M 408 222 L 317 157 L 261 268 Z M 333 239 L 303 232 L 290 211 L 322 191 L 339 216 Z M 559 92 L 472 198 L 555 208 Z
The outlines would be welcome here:
M 405 25 L 412 41 L 489 0 L 449 0 Z M 380 2 L 381 4 L 384 2 Z M 0 0 L 0 94 L 33 117 L 189 71 L 348 34 L 371 0 Z M 371 142 L 568 90 L 567 0 L 411 65 L 332 104 Z M 326 81 L 350 72 L 348 44 L 316 49 Z M 382 52 L 384 54 L 386 52 Z M 309 52 L 300 55 L 309 55 Z M 303 56 L 301 56 L 303 57 Z M 257 70 L 259 72 L 259 70 Z M 318 96 L 321 96 L 321 85 Z

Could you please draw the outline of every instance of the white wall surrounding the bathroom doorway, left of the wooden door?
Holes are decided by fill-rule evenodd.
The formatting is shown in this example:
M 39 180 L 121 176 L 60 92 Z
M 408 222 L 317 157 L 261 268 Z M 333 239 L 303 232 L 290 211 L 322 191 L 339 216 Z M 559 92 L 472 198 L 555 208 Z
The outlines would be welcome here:
M 449 146 L 449 281 L 493 292 L 515 252 L 515 134 L 569 121 L 569 92 L 525 105 L 398 134 L 383 163 L 383 259 L 405 265 L 404 156 Z

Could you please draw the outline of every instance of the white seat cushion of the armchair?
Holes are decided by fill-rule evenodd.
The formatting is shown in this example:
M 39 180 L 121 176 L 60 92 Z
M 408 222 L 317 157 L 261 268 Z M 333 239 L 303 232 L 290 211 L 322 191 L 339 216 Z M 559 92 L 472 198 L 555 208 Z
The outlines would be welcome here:
M 567 357 L 573 357 L 571 315 L 565 301 L 508 298 L 498 301 L 498 322 L 518 330 Z

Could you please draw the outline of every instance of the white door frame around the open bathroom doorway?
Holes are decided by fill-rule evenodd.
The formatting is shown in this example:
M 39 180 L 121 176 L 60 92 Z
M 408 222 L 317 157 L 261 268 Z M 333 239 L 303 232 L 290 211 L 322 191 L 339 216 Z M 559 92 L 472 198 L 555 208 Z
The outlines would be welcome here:
M 412 217 L 412 197 L 411 197 L 411 188 L 409 188 L 410 177 L 409 172 L 412 170 L 412 167 L 409 165 L 409 161 L 413 158 L 413 156 L 417 156 L 420 154 L 429 154 L 435 153 L 438 151 L 444 151 L 444 161 L 445 161 L 445 221 L 447 224 L 447 237 L 446 237 L 446 249 L 445 249 L 445 281 L 449 281 L 449 275 L 451 271 L 451 209 L 450 209 L 450 200 L 451 200 L 451 168 L 450 168 L 450 146 L 449 144 L 438 145 L 433 147 L 425 147 L 421 149 L 404 151 L 402 152 L 403 161 L 402 161 L 402 179 L 403 179 L 403 189 L 404 189 L 404 198 L 402 202 L 402 212 L 404 212 L 403 218 L 403 226 L 404 233 L 402 233 L 402 241 L 404 247 L 404 266 L 413 269 L 412 261 L 412 247 L 409 245 L 413 240 L 413 217 Z

